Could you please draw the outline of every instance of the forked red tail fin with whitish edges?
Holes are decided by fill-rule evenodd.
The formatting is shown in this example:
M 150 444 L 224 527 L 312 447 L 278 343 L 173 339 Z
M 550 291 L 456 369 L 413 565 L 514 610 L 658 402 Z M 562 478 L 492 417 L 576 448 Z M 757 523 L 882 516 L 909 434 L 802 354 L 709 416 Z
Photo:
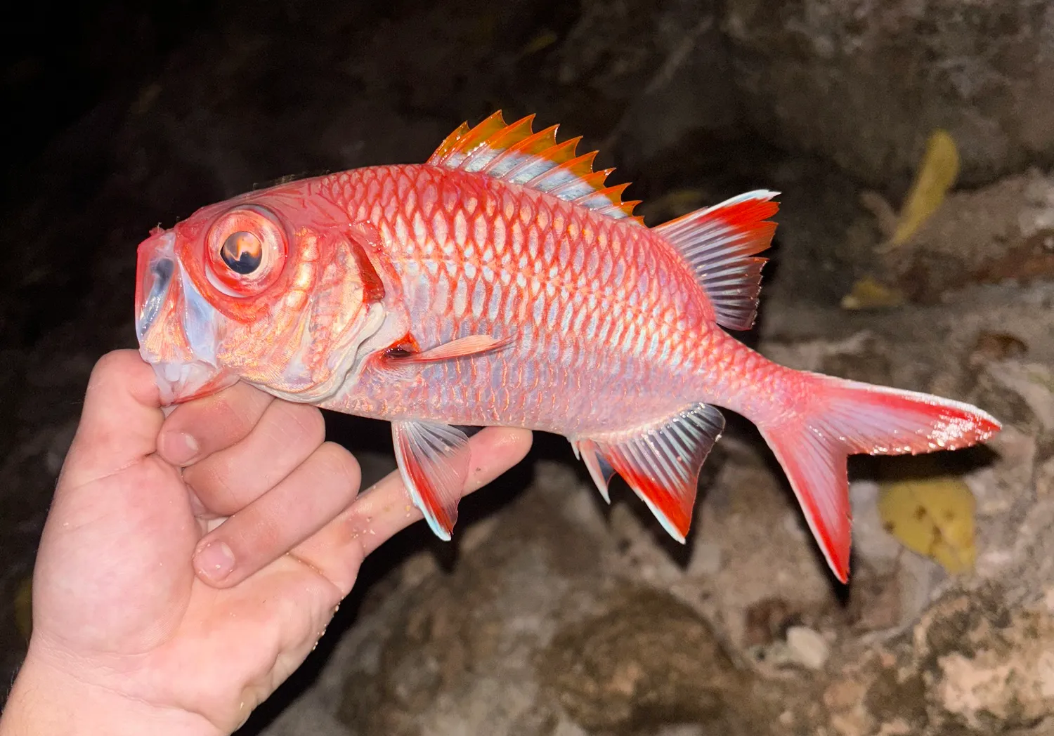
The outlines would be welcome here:
M 848 579 L 848 455 L 902 455 L 982 442 L 999 422 L 976 406 L 929 394 L 785 372 L 782 400 L 755 419 L 790 481 L 832 571 Z

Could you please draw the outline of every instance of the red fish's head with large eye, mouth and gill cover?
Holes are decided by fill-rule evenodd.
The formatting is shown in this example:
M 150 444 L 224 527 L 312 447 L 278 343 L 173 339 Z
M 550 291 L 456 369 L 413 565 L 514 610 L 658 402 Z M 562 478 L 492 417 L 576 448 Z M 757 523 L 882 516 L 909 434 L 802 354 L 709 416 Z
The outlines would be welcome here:
M 136 334 L 162 401 L 238 380 L 305 402 L 333 393 L 384 320 L 384 282 L 367 250 L 368 235 L 317 180 L 154 228 L 138 248 Z

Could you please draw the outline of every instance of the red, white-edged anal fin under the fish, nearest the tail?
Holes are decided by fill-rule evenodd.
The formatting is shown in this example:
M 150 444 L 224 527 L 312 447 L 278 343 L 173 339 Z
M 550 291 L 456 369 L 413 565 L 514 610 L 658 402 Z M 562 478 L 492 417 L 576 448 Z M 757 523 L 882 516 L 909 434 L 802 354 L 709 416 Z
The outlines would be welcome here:
M 659 426 L 574 442 L 605 500 L 612 473 L 621 475 L 663 529 L 684 543 L 691 525 L 699 471 L 724 429 L 714 406 L 696 404 Z

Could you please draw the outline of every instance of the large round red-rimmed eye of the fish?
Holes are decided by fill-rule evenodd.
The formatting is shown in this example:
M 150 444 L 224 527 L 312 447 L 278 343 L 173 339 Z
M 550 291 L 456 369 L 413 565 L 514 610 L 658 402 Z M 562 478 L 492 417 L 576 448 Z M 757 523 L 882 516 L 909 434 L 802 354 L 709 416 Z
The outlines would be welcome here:
M 273 284 L 286 262 L 286 232 L 259 205 L 220 215 L 206 236 L 209 281 L 232 297 L 251 297 Z

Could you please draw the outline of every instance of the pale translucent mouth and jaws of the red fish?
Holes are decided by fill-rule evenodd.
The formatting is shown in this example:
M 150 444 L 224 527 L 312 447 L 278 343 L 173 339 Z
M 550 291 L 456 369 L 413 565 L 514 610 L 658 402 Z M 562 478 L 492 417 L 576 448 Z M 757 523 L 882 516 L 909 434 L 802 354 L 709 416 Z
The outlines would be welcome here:
M 173 233 L 139 245 L 135 325 L 139 355 L 154 369 L 164 405 L 182 403 L 237 382 L 216 363 L 215 313 L 187 278 Z

